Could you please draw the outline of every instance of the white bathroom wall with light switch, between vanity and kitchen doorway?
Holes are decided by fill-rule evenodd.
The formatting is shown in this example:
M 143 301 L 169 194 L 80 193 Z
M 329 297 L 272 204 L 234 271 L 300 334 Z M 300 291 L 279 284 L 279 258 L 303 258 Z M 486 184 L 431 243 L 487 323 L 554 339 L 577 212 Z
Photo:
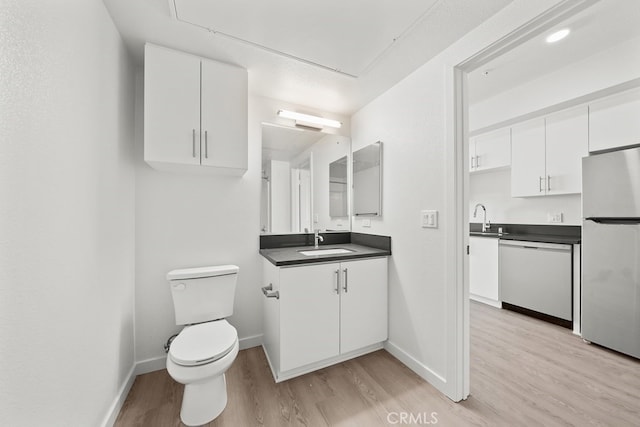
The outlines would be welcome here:
M 515 0 L 358 111 L 352 148 L 383 142 L 383 216 L 371 228 L 392 236 L 387 348 L 448 396 L 456 397 L 455 145 L 453 66 L 523 25 L 556 1 Z M 439 228 L 420 228 L 420 210 L 439 211 Z

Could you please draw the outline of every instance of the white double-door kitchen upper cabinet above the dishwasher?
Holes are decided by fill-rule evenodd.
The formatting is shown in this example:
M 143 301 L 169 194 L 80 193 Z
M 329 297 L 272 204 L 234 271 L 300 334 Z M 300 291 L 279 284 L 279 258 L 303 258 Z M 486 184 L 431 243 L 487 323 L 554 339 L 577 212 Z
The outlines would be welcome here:
M 582 191 L 582 157 L 588 147 L 587 107 L 528 121 L 511 129 L 511 195 L 575 194 Z

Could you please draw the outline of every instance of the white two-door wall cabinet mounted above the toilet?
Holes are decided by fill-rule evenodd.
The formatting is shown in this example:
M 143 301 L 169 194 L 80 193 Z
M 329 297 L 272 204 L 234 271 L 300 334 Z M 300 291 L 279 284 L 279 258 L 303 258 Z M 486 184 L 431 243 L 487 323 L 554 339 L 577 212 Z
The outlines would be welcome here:
M 247 169 L 247 72 L 145 45 L 144 158 L 157 169 Z

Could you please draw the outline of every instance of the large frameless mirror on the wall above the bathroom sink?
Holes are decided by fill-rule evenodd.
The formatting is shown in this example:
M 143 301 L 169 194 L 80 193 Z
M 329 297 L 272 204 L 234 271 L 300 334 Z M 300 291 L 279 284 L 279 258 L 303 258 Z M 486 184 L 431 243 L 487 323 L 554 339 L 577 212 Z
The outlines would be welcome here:
M 348 137 L 262 124 L 262 234 L 350 231 Z

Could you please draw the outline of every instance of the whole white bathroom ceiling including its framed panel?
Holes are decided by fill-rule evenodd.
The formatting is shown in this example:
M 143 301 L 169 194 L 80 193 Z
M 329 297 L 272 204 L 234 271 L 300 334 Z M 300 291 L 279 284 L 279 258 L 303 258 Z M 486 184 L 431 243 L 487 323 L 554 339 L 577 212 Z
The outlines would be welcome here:
M 240 65 L 254 95 L 350 115 L 512 0 L 103 0 L 145 42 Z

